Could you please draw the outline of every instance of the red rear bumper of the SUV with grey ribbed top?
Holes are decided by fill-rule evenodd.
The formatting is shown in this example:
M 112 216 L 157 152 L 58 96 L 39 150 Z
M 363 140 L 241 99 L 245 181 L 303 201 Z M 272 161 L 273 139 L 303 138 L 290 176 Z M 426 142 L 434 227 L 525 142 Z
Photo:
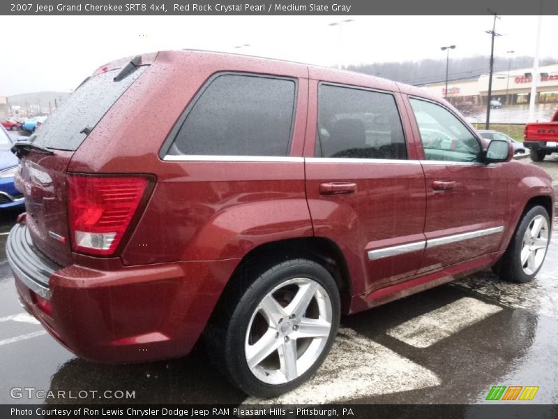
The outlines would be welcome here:
M 16 225 L 6 245 L 22 304 L 63 346 L 100 362 L 186 355 L 239 262 L 60 267 L 27 237 L 27 227 Z M 38 296 L 48 300 L 49 311 Z

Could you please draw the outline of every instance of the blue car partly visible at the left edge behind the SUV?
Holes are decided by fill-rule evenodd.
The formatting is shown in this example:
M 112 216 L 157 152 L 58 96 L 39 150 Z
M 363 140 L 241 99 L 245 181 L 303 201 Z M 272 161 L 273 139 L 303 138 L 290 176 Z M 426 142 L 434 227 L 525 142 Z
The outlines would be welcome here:
M 13 183 L 17 163 L 19 163 L 17 157 L 10 151 L 15 140 L 10 138 L 3 126 L 0 128 L 0 210 L 23 207 L 23 195 L 15 189 Z

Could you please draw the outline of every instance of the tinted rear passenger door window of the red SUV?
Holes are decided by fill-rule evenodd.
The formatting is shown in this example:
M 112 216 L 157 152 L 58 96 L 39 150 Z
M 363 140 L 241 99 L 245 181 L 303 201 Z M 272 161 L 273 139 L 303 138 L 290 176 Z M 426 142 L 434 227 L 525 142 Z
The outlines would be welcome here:
M 407 159 L 393 95 L 319 85 L 317 157 Z

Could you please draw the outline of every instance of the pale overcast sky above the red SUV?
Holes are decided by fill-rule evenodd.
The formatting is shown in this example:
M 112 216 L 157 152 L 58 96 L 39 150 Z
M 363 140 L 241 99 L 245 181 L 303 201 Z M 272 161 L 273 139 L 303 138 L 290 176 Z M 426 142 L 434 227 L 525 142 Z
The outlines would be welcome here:
M 332 22 L 352 19 L 341 25 Z M 534 55 L 538 17 L 497 20 L 495 54 Z M 156 50 L 199 48 L 322 66 L 490 54 L 486 16 L 0 16 L 0 96 L 70 91 L 101 64 Z M 556 57 L 558 17 L 545 16 L 541 57 Z M 235 48 L 236 45 L 249 47 Z

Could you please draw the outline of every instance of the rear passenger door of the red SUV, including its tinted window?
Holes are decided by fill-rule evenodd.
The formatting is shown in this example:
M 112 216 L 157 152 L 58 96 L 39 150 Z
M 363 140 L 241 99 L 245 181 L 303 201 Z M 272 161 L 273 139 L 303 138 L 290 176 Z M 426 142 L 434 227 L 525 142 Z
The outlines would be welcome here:
M 310 80 L 308 205 L 315 235 L 345 254 L 354 295 L 412 277 L 423 256 L 424 176 L 408 158 L 399 100 Z

